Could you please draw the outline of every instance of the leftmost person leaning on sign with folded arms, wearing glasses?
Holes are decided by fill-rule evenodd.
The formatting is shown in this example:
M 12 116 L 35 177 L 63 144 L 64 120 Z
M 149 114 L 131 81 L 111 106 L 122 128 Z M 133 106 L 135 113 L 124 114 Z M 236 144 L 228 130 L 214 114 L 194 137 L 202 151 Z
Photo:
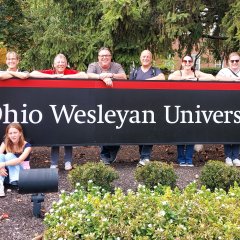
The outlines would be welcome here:
M 10 51 L 6 54 L 6 65 L 7 70 L 0 72 L 0 79 L 9 79 L 12 77 L 17 77 L 21 79 L 26 79 L 29 77 L 29 73 L 22 71 L 18 68 L 19 64 L 19 55 L 16 52 Z

